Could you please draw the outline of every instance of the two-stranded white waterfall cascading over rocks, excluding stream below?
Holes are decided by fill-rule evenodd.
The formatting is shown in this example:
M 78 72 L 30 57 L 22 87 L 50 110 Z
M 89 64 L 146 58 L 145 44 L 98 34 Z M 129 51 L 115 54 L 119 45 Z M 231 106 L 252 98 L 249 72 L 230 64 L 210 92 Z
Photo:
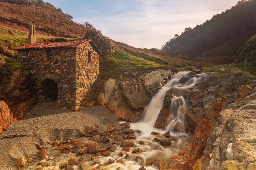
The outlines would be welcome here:
M 191 88 L 195 86 L 198 82 L 205 81 L 205 74 L 198 74 L 192 77 L 187 76 L 189 71 L 179 72 L 171 77 L 171 79 L 159 90 L 159 92 L 151 99 L 148 106 L 146 106 L 142 122 L 150 126 L 155 125 L 155 121 L 160 113 L 160 110 L 163 108 L 164 97 L 166 92 L 172 87 L 178 88 L 180 90 L 184 88 Z M 184 82 L 180 81 L 184 79 Z M 170 106 L 170 116 L 169 124 L 166 126 L 166 130 L 185 132 L 186 121 L 185 121 L 185 112 L 186 112 L 186 99 L 182 94 L 176 94 L 171 100 Z

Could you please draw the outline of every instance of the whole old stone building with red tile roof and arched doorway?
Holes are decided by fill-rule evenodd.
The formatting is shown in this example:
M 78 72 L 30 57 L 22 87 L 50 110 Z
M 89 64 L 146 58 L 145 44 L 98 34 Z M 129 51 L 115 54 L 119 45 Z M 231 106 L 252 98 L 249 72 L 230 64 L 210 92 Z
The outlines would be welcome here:
M 56 108 L 72 110 L 85 105 L 86 94 L 99 75 L 101 52 L 92 40 L 39 42 L 16 50 L 42 102 L 56 100 Z

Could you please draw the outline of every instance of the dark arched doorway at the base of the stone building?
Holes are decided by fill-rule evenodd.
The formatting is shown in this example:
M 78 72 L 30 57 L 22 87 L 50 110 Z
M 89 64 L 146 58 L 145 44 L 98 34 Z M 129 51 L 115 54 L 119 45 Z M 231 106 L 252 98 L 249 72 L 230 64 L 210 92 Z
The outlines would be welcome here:
M 41 95 L 45 99 L 57 100 L 58 99 L 58 85 L 52 79 L 46 79 L 41 85 Z

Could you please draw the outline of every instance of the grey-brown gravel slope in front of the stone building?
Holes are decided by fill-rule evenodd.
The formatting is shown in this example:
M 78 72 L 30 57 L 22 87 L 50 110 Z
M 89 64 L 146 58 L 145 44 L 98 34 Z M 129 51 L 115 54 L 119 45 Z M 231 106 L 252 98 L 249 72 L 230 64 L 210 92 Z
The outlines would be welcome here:
M 79 132 L 85 132 L 89 126 L 99 126 L 106 130 L 113 124 L 119 126 L 115 116 L 103 106 L 93 106 L 72 112 L 67 109 L 55 110 L 53 103 L 41 103 L 34 107 L 33 114 L 14 122 L 0 136 L 0 170 L 13 170 L 13 161 L 25 155 L 38 154 L 35 145 L 44 145 L 55 140 L 76 139 Z M 10 135 L 28 135 L 5 139 Z

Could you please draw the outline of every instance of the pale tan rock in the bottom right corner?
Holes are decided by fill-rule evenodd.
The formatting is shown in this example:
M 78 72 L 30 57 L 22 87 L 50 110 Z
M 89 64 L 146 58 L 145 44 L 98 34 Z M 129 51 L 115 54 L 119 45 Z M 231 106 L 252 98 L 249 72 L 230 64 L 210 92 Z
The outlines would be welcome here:
M 253 170 L 256 164 L 256 100 L 237 111 L 219 114 L 214 131 L 209 136 L 204 155 L 193 170 Z M 251 168 L 250 168 L 251 167 Z

